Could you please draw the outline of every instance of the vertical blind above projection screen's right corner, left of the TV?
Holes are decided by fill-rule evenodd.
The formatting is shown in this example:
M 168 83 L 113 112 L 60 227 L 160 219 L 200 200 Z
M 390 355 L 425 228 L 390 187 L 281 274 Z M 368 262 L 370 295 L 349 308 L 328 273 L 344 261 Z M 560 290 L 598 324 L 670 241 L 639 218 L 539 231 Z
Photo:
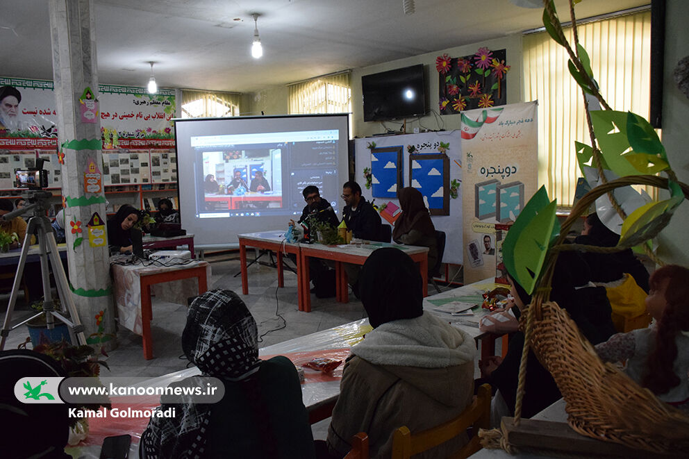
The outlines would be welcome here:
M 288 85 L 290 115 L 351 112 L 349 76 L 344 72 Z

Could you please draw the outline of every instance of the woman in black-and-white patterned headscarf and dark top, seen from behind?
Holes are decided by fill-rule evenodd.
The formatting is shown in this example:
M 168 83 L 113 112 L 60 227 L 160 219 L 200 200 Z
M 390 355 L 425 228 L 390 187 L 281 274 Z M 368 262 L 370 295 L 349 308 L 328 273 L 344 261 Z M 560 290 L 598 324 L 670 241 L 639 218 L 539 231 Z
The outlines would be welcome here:
M 194 299 L 182 349 L 203 376 L 222 380 L 225 394 L 215 404 L 176 406 L 174 418 L 151 417 L 141 437 L 145 457 L 314 457 L 297 369 L 283 356 L 260 360 L 257 336 L 254 317 L 234 292 Z

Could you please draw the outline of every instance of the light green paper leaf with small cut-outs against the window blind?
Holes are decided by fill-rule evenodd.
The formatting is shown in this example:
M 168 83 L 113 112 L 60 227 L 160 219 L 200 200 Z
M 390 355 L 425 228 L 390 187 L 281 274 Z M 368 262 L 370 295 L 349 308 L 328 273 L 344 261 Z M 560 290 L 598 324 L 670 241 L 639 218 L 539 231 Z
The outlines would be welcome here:
M 627 113 L 615 110 L 594 110 L 591 112 L 593 131 L 598 144 L 611 171 L 617 176 L 647 174 L 640 171 L 627 159 L 625 153 L 631 148 L 627 137 Z M 614 132 L 617 128 L 618 132 Z

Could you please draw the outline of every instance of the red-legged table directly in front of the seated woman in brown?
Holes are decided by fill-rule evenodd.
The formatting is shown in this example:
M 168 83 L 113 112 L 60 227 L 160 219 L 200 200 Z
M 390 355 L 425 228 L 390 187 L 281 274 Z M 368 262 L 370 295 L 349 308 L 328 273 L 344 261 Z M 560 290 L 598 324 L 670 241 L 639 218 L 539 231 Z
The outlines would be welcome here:
M 357 246 L 355 244 L 328 246 L 323 244 L 301 244 L 300 258 L 301 267 L 299 269 L 299 285 L 304 294 L 301 295 L 301 302 L 299 303 L 299 310 L 310 312 L 311 310 L 311 296 L 309 294 L 310 274 L 308 269 L 308 258 L 322 258 L 324 260 L 333 260 L 335 262 L 335 278 L 337 279 L 335 297 L 340 303 L 347 303 L 349 301 L 349 290 L 347 288 L 347 272 L 345 272 L 343 263 L 351 263 L 353 265 L 363 265 L 366 259 L 376 249 L 381 247 L 396 247 L 404 251 L 412 260 L 419 264 L 419 272 L 422 277 L 422 285 L 424 288 L 424 297 L 428 295 L 428 266 L 429 266 L 429 249 L 428 247 L 417 247 L 413 245 L 389 244 L 386 242 L 371 242 L 370 244 L 363 244 Z

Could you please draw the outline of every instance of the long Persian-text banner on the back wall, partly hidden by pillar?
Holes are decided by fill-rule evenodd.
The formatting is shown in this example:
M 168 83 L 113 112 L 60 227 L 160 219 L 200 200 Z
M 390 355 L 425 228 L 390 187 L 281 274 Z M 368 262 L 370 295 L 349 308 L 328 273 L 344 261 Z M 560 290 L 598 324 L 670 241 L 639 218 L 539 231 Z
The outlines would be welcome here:
M 0 77 L 0 97 L 0 149 L 57 149 L 52 81 Z M 101 121 L 103 149 L 174 148 L 174 90 L 148 94 L 144 87 L 99 85 L 91 97 L 97 103 L 79 102 L 96 107 L 90 111 Z

